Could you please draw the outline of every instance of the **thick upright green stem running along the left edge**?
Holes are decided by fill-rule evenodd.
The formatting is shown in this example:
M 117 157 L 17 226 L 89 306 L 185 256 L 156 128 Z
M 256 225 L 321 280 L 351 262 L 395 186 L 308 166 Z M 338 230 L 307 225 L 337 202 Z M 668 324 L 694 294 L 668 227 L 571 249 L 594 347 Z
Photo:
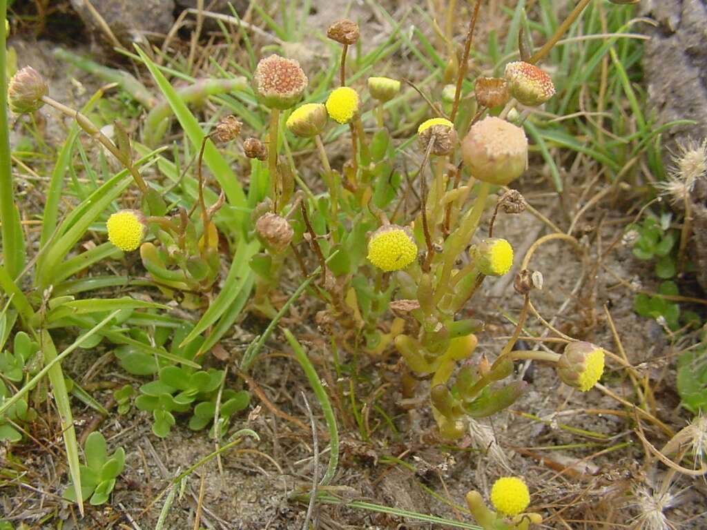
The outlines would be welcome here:
M 7 16 L 7 1 L 0 0 L 0 23 Z M 15 205 L 10 161 L 10 131 L 7 116 L 6 35 L 0 28 L 0 222 L 5 267 L 11 278 L 20 275 L 25 265 L 25 245 L 20 213 Z

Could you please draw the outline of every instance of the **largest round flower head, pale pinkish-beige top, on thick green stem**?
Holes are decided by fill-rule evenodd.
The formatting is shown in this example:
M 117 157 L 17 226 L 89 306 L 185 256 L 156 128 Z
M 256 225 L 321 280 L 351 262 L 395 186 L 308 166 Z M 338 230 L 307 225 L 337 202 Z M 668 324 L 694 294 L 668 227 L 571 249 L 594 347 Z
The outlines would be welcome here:
M 486 117 L 464 136 L 462 158 L 475 178 L 490 184 L 509 184 L 527 167 L 525 131 L 501 118 Z

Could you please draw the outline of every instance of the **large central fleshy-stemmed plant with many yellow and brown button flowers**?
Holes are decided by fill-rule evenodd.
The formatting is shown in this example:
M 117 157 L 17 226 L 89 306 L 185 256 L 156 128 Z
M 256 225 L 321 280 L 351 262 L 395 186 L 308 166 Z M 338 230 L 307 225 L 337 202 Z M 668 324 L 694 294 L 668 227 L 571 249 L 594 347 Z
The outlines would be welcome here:
M 421 163 L 413 190 L 402 186 L 392 163 L 400 153 L 385 128 L 385 102 L 397 97 L 399 81 L 369 78 L 377 125 L 369 137 L 363 124 L 363 98 L 346 84 L 346 52 L 358 40 L 358 26 L 339 20 L 327 35 L 342 45 L 340 86 L 323 104 L 305 102 L 286 119 L 291 134 L 314 141 L 325 194 L 310 192 L 303 199 L 293 192 L 292 168 L 279 162 L 275 141 L 279 113 L 302 97 L 308 81 L 305 73 L 295 61 L 277 56 L 262 59 L 256 69 L 257 91 L 271 112 L 267 147 L 271 188 L 255 223 L 265 248 L 251 261 L 262 277 L 269 278 L 262 293 L 271 293 L 288 247 L 303 266 L 297 249 L 301 235 L 322 271 L 315 292 L 327 303 L 327 310 L 317 315 L 317 323 L 332 331 L 338 326 L 343 333 L 336 336 L 350 348 L 357 348 L 363 336 L 371 355 L 387 353 L 394 343 L 409 372 L 431 378 L 434 416 L 441 434 L 450 439 L 464 434 L 467 418 L 490 416 L 518 399 L 525 383 L 504 382 L 517 358 L 555 363 L 563 381 L 583 391 L 590 389 L 604 366 L 604 352 L 598 346 L 570 343 L 563 354 L 513 351 L 530 290 L 541 280 L 538 274 L 518 274 L 516 290 L 525 298 L 522 318 L 493 363 L 486 358 L 471 360 L 475 334 L 483 322 L 458 319 L 486 276 L 502 276 L 513 265 L 513 248 L 493 236 L 493 221 L 498 213 L 519 213 L 525 208 L 518 192 L 501 193 L 488 235 L 478 232 L 482 214 L 494 206 L 492 193 L 508 186 L 527 167 L 525 131 L 509 121 L 510 111 L 518 104 L 542 105 L 554 95 L 551 78 L 534 64 L 542 56 L 531 59 L 523 53 L 526 60 L 508 64 L 503 78 L 478 78 L 477 107 L 463 113 L 470 122 L 463 135 L 455 124 L 462 114 L 465 72 L 460 69 L 457 85 L 445 90 L 453 94 L 449 116 L 433 107 L 438 117 L 417 129 Z M 351 157 L 341 171 L 332 168 L 322 143 L 329 119 L 348 127 L 351 136 Z M 419 196 L 419 208 L 409 208 L 411 192 Z M 396 317 L 380 329 L 380 319 L 389 309 Z M 404 377 L 414 381 L 409 374 Z

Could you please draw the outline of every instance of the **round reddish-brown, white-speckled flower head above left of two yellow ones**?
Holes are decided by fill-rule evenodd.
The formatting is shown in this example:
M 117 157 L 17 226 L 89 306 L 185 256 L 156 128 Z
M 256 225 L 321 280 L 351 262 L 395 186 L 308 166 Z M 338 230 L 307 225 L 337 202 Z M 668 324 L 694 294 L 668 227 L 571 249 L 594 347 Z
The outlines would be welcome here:
M 271 55 L 260 59 L 255 69 L 255 86 L 264 104 L 286 110 L 300 100 L 309 79 L 298 61 Z

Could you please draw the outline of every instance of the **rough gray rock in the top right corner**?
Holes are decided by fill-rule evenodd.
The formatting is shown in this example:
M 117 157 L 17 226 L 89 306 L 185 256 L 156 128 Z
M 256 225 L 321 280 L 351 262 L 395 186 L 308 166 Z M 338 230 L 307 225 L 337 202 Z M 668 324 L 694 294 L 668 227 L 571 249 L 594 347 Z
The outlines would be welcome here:
M 658 25 L 647 26 L 643 68 L 648 98 L 660 122 L 694 119 L 665 136 L 666 145 L 688 136 L 707 136 L 707 0 L 645 0 L 643 14 Z

